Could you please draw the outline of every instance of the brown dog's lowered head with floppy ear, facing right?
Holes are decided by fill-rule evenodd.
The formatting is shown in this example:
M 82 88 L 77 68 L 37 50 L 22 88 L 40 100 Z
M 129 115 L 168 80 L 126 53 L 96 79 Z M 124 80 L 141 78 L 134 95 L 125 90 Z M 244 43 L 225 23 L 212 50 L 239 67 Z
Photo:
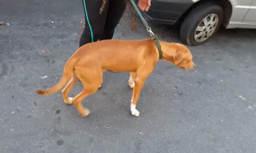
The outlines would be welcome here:
M 188 70 L 195 67 L 193 56 L 185 45 L 180 43 L 170 43 L 164 49 L 165 51 L 163 52 L 167 54 L 167 57 L 163 57 L 163 60 L 171 62 L 181 69 Z

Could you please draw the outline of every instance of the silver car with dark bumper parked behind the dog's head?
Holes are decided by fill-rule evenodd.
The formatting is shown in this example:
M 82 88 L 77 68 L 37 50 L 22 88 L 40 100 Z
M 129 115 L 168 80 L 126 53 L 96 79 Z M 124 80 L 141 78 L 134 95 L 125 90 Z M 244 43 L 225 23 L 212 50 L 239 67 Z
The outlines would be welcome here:
M 137 0 L 138 1 L 138 0 Z M 152 0 L 146 20 L 179 25 L 188 45 L 208 42 L 223 25 L 227 29 L 256 29 L 256 0 Z

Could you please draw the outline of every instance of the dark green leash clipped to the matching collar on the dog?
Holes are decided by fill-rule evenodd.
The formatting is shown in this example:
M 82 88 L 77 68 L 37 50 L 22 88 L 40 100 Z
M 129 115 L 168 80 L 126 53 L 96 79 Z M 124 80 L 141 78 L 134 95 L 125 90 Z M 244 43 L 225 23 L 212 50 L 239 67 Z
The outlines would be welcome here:
M 146 21 L 145 18 L 142 16 L 142 14 L 140 13 L 140 10 L 139 10 L 138 7 L 136 6 L 134 0 L 130 0 L 130 1 L 131 1 L 131 3 L 132 3 L 133 7 L 135 8 L 136 12 L 138 13 L 140 19 L 142 20 L 144 26 L 146 27 L 146 31 L 147 31 L 148 33 L 150 33 L 151 39 L 152 39 L 152 41 L 154 42 L 154 44 L 156 45 L 156 47 L 157 47 L 157 49 L 158 49 L 159 59 L 161 60 L 162 57 L 163 57 L 163 52 L 162 52 L 161 45 L 160 45 L 160 43 L 159 43 L 159 41 L 158 41 L 157 36 L 152 32 L 150 26 L 148 25 L 147 21 Z

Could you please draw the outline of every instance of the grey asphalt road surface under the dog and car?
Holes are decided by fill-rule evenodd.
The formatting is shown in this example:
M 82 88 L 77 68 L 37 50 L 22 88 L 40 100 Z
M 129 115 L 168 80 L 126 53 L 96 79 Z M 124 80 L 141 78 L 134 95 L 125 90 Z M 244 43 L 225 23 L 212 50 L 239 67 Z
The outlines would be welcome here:
M 114 38 L 147 38 L 140 22 L 131 32 L 125 14 Z M 188 46 L 192 70 L 159 61 L 141 91 L 139 117 L 130 114 L 129 73 L 105 72 L 102 89 L 83 100 L 91 113 L 82 118 L 60 92 L 34 92 L 55 85 L 77 49 L 82 3 L 4 0 L 0 21 L 9 23 L 0 26 L 1 152 L 255 152 L 255 30 L 222 30 Z M 180 42 L 174 30 L 152 30 Z M 77 83 L 71 96 L 81 89 Z

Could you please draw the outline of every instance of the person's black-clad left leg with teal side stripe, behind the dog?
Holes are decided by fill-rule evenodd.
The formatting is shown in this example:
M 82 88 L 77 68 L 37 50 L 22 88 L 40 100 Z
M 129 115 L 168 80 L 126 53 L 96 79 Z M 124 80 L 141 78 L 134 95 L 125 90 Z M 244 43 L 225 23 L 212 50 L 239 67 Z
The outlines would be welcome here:
M 79 47 L 95 42 L 103 32 L 110 0 L 106 0 L 104 10 L 99 13 L 103 0 L 82 0 L 85 17 L 84 30 L 80 38 Z

